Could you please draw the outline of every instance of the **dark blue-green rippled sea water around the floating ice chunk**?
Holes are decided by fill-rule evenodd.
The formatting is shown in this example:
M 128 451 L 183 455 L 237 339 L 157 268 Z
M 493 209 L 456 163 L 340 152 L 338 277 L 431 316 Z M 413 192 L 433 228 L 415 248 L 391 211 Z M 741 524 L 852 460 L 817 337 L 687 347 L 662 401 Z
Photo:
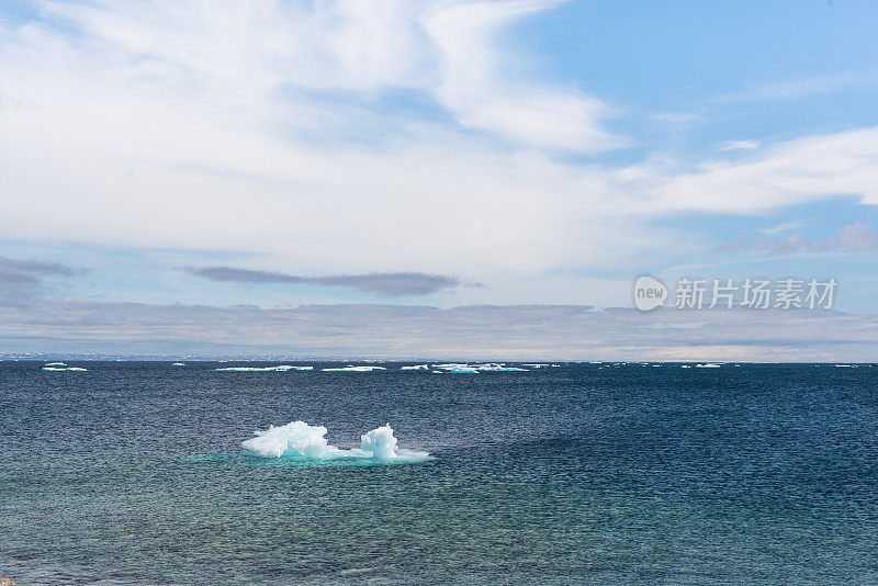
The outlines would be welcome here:
M 878 583 L 875 368 L 41 365 L 0 363 L 21 585 Z M 240 453 L 297 419 L 436 458 Z

